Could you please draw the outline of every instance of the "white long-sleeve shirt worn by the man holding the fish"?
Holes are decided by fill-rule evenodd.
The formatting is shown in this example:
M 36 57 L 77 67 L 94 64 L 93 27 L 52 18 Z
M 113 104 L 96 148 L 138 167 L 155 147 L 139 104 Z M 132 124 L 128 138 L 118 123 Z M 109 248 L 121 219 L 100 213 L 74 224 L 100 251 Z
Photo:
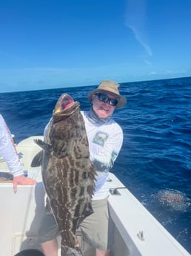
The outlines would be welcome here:
M 109 188 L 105 181 L 121 150 L 124 135 L 121 127 L 113 119 L 105 123 L 93 123 L 88 118 L 88 111 L 81 111 L 81 114 L 87 131 L 90 160 L 96 166 L 98 174 L 93 199 L 99 200 L 108 196 Z

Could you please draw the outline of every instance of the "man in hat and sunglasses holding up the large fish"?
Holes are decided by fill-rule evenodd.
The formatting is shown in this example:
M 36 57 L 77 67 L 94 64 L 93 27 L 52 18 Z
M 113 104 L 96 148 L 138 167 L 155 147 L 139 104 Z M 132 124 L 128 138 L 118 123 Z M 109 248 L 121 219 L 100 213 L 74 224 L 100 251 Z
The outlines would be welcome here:
M 118 92 L 118 83 L 104 80 L 98 88 L 90 92 L 90 111 L 81 111 L 87 131 L 90 160 L 96 167 L 96 191 L 93 195 L 94 213 L 80 225 L 84 240 L 96 249 L 96 256 L 109 256 L 113 246 L 113 228 L 107 208 L 107 177 L 123 143 L 123 131 L 113 120 L 113 112 L 122 108 L 127 99 Z M 109 230 L 109 231 L 108 231 Z M 53 215 L 45 214 L 39 229 L 38 240 L 45 256 L 58 256 L 56 236 L 58 226 Z

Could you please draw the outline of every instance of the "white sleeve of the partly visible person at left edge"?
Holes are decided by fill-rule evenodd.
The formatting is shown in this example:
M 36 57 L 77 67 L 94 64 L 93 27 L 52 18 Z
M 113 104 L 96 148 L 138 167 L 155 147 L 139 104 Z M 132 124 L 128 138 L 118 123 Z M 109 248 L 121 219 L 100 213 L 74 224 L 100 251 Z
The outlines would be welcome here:
M 14 177 L 24 173 L 16 148 L 13 145 L 12 137 L 3 116 L 0 114 L 0 155 L 4 157 L 4 161 Z

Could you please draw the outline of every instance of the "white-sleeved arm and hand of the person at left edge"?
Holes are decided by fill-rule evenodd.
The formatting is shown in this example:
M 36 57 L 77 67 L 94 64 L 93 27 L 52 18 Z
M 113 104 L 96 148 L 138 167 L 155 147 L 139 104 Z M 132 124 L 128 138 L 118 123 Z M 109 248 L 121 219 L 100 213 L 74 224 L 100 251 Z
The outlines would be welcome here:
M 36 181 L 30 177 L 24 177 L 24 170 L 19 162 L 16 148 L 13 145 L 11 134 L 6 122 L 0 115 L 0 154 L 13 174 L 13 189 L 17 190 L 17 185 L 34 185 Z

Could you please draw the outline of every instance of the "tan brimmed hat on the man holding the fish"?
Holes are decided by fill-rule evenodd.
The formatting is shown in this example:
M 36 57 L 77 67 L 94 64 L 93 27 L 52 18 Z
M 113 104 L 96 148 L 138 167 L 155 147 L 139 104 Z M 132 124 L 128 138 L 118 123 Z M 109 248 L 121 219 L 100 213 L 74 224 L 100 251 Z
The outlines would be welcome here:
M 98 85 L 98 88 L 96 88 L 95 90 L 91 91 L 88 96 L 87 96 L 87 99 L 89 100 L 89 102 L 92 102 L 92 98 L 93 98 L 93 95 L 95 93 L 98 93 L 98 92 L 110 92 L 110 93 L 114 93 L 115 95 L 117 95 L 118 97 L 118 104 L 115 106 L 115 108 L 122 108 L 126 102 L 127 102 L 127 99 L 124 97 L 124 96 L 121 96 L 119 94 L 119 91 L 118 91 L 118 87 L 119 87 L 119 84 L 117 82 L 113 82 L 111 80 L 103 80 L 99 85 Z

